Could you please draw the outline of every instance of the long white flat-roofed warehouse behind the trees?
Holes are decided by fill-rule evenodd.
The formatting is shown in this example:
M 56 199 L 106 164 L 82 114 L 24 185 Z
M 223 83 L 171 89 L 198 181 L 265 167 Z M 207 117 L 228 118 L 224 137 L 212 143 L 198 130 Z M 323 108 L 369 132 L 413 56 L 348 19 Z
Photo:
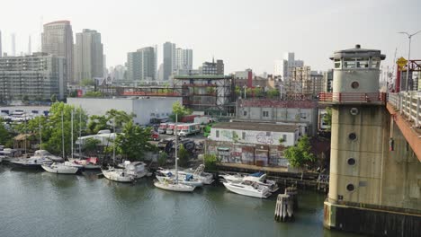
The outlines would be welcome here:
M 82 107 L 88 116 L 105 115 L 108 110 L 122 110 L 133 113 L 133 121 L 147 125 L 154 118 L 168 118 L 173 104 L 182 103 L 181 97 L 133 97 L 133 98 L 67 98 L 67 103 Z

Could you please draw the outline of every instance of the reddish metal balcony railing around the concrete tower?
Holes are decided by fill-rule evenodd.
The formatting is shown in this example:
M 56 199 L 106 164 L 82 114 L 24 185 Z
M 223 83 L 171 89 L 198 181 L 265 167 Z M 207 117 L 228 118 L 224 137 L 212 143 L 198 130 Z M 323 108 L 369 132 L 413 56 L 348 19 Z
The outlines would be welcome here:
M 318 101 L 325 102 L 385 102 L 384 92 L 322 92 L 318 94 Z

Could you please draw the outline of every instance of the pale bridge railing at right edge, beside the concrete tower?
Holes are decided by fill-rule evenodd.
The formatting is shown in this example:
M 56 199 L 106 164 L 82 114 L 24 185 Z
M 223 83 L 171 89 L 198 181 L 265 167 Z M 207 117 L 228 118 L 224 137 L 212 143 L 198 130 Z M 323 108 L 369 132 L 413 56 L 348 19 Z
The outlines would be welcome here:
M 421 126 L 421 92 L 388 93 L 388 102 L 399 111 L 401 115 Z

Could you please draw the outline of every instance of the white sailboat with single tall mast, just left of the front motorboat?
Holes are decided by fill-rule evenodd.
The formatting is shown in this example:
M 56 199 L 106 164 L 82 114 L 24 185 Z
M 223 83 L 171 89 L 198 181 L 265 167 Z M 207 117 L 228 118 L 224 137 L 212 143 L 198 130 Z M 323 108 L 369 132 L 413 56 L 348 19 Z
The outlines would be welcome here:
M 165 189 L 169 191 L 176 191 L 176 192 L 193 192 L 196 186 L 193 185 L 186 185 L 181 183 L 178 179 L 178 157 L 177 157 L 177 114 L 175 114 L 175 178 L 172 177 L 162 177 L 157 176 L 157 180 L 154 181 L 155 187 L 159 189 Z

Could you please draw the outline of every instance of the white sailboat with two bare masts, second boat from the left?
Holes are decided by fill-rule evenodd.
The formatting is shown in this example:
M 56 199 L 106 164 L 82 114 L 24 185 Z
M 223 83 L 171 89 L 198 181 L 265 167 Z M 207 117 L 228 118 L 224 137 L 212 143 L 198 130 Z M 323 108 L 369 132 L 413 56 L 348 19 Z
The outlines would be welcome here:
M 72 122 L 71 122 L 71 130 L 72 130 L 72 156 L 73 156 L 73 110 L 72 110 Z M 63 149 L 63 157 L 65 155 L 64 153 L 64 127 L 63 127 L 64 121 L 63 121 L 63 112 L 61 112 L 61 143 L 62 143 L 62 149 Z M 51 172 L 51 173 L 62 173 L 62 174 L 75 174 L 77 171 L 79 171 L 79 168 L 81 168 L 81 165 L 76 165 L 71 162 L 53 162 L 50 164 L 42 164 L 42 169 L 45 171 Z

